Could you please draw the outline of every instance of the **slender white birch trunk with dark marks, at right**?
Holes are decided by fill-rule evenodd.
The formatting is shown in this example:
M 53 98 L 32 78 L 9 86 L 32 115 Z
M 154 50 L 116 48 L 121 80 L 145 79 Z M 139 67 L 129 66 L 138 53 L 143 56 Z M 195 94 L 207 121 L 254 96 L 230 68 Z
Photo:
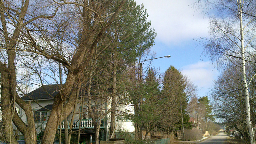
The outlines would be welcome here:
M 244 97 L 245 97 L 245 109 L 246 109 L 246 125 L 249 131 L 250 137 L 250 144 L 255 144 L 254 139 L 254 131 L 251 122 L 251 111 L 250 111 L 250 99 L 249 99 L 249 91 L 248 85 L 246 82 L 246 69 L 245 69 L 245 49 L 244 49 L 244 28 L 243 28 L 243 13 L 242 10 L 243 5 L 242 1 L 239 0 L 238 2 L 238 13 L 239 13 L 239 20 L 240 20 L 240 34 L 241 34 L 241 57 L 242 57 L 242 75 L 243 75 L 243 83 L 244 83 Z

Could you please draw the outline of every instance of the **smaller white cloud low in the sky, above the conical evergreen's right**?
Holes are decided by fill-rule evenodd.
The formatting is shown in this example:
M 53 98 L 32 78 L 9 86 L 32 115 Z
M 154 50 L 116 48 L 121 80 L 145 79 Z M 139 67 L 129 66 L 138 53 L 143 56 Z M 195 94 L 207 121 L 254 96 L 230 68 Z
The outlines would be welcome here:
M 209 61 L 198 61 L 195 64 L 187 65 L 182 68 L 182 73 L 199 87 L 211 88 L 211 85 L 217 77 L 217 71 Z

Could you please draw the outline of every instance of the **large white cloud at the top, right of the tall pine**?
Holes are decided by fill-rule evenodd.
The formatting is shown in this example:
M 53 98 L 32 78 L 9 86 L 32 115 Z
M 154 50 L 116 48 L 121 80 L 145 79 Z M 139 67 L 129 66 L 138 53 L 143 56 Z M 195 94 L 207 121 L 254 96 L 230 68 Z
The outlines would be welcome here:
M 207 36 L 208 19 L 192 9 L 191 0 L 136 0 L 144 4 L 148 20 L 157 32 L 156 39 L 165 44 L 179 44 L 184 39 Z

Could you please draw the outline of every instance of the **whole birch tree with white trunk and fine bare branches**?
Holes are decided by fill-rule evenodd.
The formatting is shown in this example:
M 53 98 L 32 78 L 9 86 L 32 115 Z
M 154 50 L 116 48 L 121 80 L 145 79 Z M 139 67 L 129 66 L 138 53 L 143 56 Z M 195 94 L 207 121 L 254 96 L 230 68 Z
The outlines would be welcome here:
M 209 1 L 204 1 L 209 3 Z M 239 60 L 237 67 L 242 71 L 243 97 L 246 107 L 246 125 L 250 143 L 255 144 L 251 123 L 250 98 L 248 84 L 251 79 L 246 76 L 246 63 L 255 62 L 255 17 L 248 13 L 255 12 L 255 1 L 218 0 L 215 2 L 217 15 L 210 18 L 210 37 L 200 39 L 204 52 L 217 62 L 219 68 L 225 69 L 229 64 Z

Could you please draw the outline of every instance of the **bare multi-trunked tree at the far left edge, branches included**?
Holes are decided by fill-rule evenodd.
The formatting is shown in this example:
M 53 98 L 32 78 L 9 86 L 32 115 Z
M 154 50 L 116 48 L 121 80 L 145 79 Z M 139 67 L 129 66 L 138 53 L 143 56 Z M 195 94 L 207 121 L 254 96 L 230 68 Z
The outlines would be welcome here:
M 52 2 L 45 2 L 46 5 L 54 5 Z M 36 8 L 39 5 L 36 5 Z M 20 99 L 16 90 L 16 62 L 17 49 L 24 48 L 20 41 L 25 40 L 24 33 L 31 26 L 31 22 L 39 19 L 51 19 L 56 15 L 58 6 L 52 7 L 50 13 L 42 12 L 39 9 L 30 9 L 29 0 L 22 3 L 0 1 L 1 14 L 1 91 L 2 91 L 2 114 L 5 117 L 4 133 L 7 143 L 17 143 L 12 132 L 12 121 L 19 131 L 24 135 L 26 143 L 36 143 L 36 131 L 31 106 Z M 45 7 L 47 8 L 47 6 Z M 29 12 L 29 14 L 28 14 Z M 31 12 L 31 13 L 30 13 Z M 38 15 L 35 15 L 37 13 Z M 25 34 L 26 35 L 26 34 Z M 16 102 L 25 110 L 28 116 L 28 124 L 25 124 L 19 117 L 14 107 Z

